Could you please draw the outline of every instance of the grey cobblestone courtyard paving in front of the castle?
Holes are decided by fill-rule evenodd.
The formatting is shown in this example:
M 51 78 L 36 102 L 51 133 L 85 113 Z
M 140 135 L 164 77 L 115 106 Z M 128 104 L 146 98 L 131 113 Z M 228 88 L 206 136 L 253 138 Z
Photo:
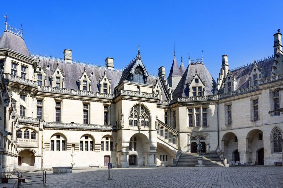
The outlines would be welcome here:
M 47 187 L 283 187 L 282 166 L 110 169 L 110 177 L 108 169 L 47 171 Z

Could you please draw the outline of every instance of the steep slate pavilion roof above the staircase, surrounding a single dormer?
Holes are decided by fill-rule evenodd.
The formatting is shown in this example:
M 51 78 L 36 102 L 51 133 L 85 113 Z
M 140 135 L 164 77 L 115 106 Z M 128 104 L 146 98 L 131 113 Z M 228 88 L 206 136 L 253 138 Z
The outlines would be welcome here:
M 177 85 L 174 93 L 173 93 L 173 99 L 178 97 L 191 97 L 189 96 L 189 85 L 191 83 L 191 80 L 196 75 L 200 77 L 200 79 L 204 82 L 205 81 L 205 91 L 204 95 L 214 95 L 214 90 L 216 86 L 216 82 L 214 81 L 213 77 L 205 67 L 203 63 L 199 64 L 190 64 L 186 71 L 184 72 L 184 75 L 182 76 L 179 84 Z

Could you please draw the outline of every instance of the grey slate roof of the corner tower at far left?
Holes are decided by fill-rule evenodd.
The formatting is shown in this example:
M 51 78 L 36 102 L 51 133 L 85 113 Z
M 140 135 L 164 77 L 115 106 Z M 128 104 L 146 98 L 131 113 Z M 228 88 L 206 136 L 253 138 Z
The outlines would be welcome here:
M 3 32 L 0 38 L 0 48 L 7 48 L 21 55 L 31 57 L 31 53 L 26 47 L 24 39 L 9 31 Z

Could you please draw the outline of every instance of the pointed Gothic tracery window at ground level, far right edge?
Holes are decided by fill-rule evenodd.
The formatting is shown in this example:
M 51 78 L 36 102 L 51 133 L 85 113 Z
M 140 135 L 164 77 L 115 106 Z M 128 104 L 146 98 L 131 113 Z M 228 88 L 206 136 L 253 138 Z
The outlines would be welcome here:
M 270 133 L 271 154 L 282 152 L 282 130 L 275 126 Z

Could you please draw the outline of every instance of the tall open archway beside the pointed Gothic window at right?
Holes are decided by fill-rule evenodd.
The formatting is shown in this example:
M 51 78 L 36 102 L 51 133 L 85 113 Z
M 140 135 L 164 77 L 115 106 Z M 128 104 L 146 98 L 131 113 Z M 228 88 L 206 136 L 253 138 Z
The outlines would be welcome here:
M 253 129 L 249 133 L 247 133 L 247 144 L 248 144 L 248 155 L 247 161 L 248 162 L 256 162 L 259 164 L 258 161 L 258 150 L 263 149 L 264 147 L 264 138 L 263 132 L 259 129 Z M 264 150 L 260 151 L 263 152 Z M 264 155 L 261 155 L 264 157 Z M 261 159 L 263 162 L 264 159 Z

